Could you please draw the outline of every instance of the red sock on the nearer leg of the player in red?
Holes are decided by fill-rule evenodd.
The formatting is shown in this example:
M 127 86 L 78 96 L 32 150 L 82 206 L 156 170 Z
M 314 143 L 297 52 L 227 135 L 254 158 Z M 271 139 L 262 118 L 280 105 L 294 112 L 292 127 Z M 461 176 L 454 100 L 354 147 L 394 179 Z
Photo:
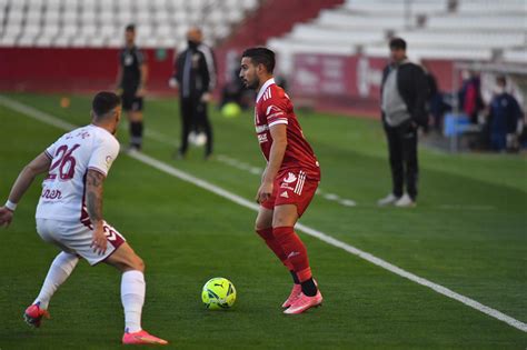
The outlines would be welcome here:
M 298 280 L 300 282 L 309 280 L 311 278 L 311 269 L 309 268 L 307 250 L 300 238 L 295 233 L 295 229 L 292 227 L 274 228 L 272 234 L 275 241 L 277 241 L 279 247 L 281 247 L 284 256 L 292 266 L 290 270 L 294 270 L 297 273 Z

